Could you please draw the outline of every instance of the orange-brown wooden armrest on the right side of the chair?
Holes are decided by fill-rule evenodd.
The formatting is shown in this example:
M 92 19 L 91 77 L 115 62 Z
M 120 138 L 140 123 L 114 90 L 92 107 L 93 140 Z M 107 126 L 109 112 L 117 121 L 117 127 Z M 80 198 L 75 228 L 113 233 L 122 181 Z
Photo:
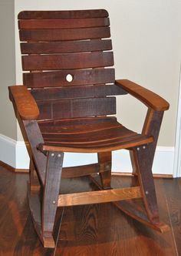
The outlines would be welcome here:
M 149 89 L 146 89 L 142 86 L 137 85 L 127 79 L 120 79 L 115 81 L 117 86 L 125 89 L 127 93 L 130 93 L 132 96 L 140 99 L 146 106 L 149 106 L 156 111 L 164 111 L 169 109 L 169 103 L 156 93 L 153 93 Z

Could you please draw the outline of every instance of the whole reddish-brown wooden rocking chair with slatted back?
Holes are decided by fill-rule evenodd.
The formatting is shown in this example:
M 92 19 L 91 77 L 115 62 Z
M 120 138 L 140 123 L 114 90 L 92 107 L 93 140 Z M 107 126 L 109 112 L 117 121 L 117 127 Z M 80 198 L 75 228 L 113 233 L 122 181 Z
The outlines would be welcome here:
M 18 15 L 24 85 L 10 86 L 9 93 L 28 141 L 29 204 L 44 247 L 54 248 L 58 207 L 114 202 L 137 221 L 167 229 L 159 219 L 152 165 L 169 103 L 127 79 L 115 81 L 109 25 L 102 9 Z M 113 116 L 115 96 L 127 93 L 148 107 L 140 134 Z M 136 187 L 110 187 L 111 151 L 120 149 L 130 150 Z M 62 168 L 64 152 L 97 153 L 98 163 Z M 91 177 L 97 190 L 60 194 L 61 178 L 81 176 Z M 130 204 L 133 198 L 142 198 L 146 215 Z

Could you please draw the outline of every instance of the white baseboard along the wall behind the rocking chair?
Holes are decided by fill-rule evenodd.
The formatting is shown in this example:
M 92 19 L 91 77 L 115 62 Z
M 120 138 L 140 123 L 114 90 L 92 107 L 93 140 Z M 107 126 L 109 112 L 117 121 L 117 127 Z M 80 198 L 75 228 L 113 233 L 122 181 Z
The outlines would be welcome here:
M 29 157 L 23 141 L 15 141 L 0 134 L 0 160 L 15 169 L 28 169 Z M 65 153 L 64 167 L 97 162 L 95 153 Z M 156 147 L 153 162 L 153 173 L 173 175 L 174 147 Z M 113 152 L 114 172 L 131 173 L 130 155 L 128 150 Z

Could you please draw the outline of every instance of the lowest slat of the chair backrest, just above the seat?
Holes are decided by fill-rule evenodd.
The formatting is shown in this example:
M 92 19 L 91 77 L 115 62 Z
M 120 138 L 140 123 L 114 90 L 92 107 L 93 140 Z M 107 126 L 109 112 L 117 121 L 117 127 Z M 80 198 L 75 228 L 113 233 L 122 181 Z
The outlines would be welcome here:
M 115 97 L 90 99 L 62 99 L 39 102 L 39 120 L 98 116 L 116 113 Z

